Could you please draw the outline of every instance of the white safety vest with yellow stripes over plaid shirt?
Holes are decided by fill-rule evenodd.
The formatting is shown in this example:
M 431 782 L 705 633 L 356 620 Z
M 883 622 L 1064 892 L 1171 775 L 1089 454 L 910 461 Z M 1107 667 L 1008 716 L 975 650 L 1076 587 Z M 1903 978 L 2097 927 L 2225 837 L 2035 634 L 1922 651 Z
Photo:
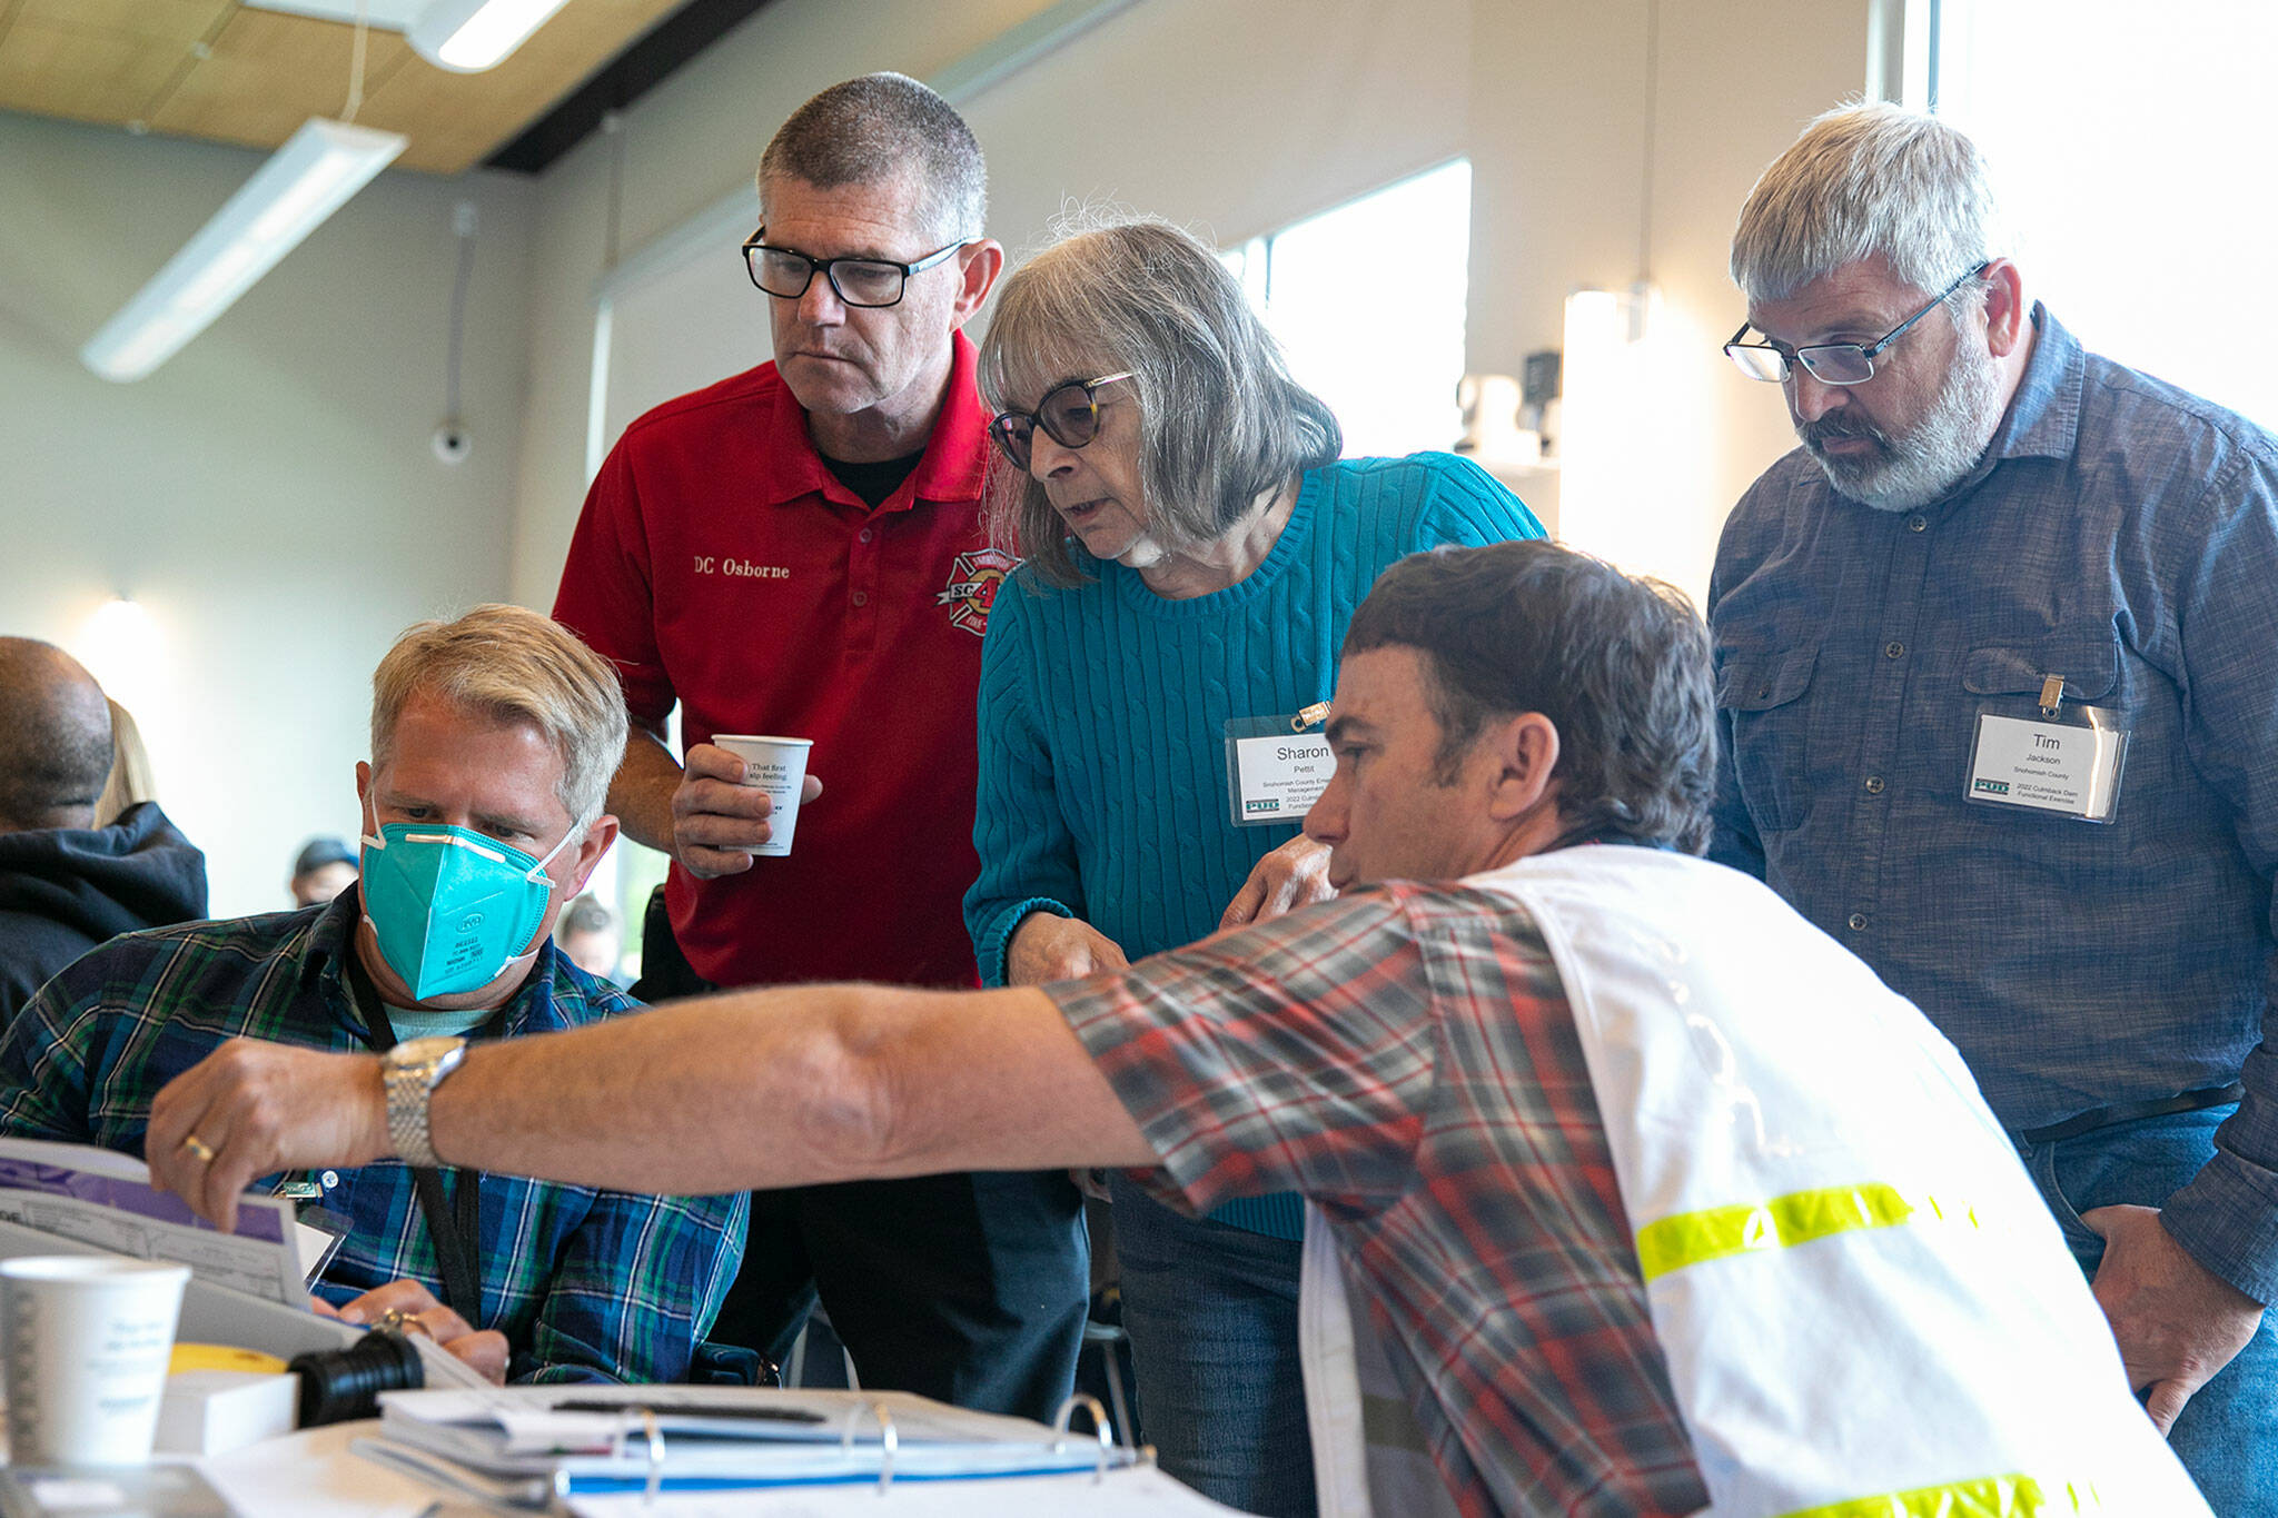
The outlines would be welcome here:
M 1708 1513 L 2207 1513 L 1911 1001 L 1681 853 L 1560 849 L 1467 885 L 1519 901 L 1558 965 Z M 1310 1208 L 1298 1315 L 1324 1518 L 1444 1511 Z

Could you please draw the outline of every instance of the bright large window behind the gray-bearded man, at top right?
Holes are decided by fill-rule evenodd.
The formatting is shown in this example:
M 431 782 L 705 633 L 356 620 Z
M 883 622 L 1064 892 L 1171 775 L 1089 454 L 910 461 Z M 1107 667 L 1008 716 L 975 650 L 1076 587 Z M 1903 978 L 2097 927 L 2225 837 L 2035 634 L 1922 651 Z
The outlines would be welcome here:
M 2034 296 L 2278 426 L 2271 0 L 1941 0 L 1936 109 L 1993 159 Z

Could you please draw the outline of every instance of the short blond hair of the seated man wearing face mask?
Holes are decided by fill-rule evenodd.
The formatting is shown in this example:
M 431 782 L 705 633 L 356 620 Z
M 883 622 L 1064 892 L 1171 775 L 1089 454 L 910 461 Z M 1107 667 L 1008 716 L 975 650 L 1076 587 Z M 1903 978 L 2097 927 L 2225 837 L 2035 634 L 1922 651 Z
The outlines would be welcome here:
M 478 605 L 458 621 L 408 628 L 371 676 L 374 769 L 387 767 L 396 719 L 417 692 L 538 728 L 563 758 L 554 794 L 574 833 L 608 806 L 608 783 L 624 762 L 624 687 L 617 669 L 558 621 L 522 605 Z

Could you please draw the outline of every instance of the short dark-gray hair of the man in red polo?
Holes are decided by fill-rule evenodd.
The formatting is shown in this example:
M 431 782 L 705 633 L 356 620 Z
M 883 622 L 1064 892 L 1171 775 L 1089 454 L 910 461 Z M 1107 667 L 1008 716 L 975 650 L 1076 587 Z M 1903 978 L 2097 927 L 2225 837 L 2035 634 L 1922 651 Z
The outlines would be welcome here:
M 759 205 L 768 184 L 804 180 L 816 189 L 888 184 L 913 178 L 925 228 L 970 241 L 989 221 L 989 164 L 973 127 L 948 100 L 900 73 L 866 73 L 831 84 L 790 112 L 759 155 Z

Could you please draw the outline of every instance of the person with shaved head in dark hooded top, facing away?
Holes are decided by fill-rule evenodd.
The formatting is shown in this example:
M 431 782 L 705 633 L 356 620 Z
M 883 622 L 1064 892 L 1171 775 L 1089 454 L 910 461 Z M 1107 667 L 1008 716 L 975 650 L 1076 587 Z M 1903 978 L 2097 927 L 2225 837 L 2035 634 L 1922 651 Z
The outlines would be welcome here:
M 107 938 L 205 917 L 205 853 L 155 801 L 96 819 L 114 710 L 55 644 L 0 637 L 0 1026 Z

